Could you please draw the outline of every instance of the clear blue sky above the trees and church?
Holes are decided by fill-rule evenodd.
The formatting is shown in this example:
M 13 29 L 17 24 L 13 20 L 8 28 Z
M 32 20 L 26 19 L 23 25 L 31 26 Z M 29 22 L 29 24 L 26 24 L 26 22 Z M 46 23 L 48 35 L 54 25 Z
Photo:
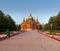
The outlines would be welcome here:
M 46 24 L 60 11 L 60 0 L 0 0 L 0 10 L 9 14 L 16 24 L 21 24 L 30 13 L 33 18 L 38 17 L 41 24 Z

